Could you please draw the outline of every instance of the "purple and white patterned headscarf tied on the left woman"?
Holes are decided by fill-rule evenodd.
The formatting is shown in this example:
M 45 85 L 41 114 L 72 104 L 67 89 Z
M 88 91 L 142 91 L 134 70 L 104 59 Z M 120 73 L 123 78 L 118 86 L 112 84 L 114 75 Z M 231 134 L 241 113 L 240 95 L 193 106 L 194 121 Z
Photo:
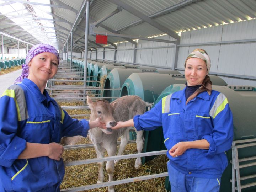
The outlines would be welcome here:
M 28 63 L 31 61 L 31 59 L 33 59 L 34 56 L 43 53 L 43 52 L 50 52 L 53 53 L 54 55 L 56 55 L 56 57 L 58 58 L 58 63 L 59 63 L 59 53 L 58 51 L 51 45 L 49 44 L 37 44 L 35 46 L 33 46 L 30 51 L 27 54 L 26 57 L 26 63 L 22 65 L 22 73 L 21 76 L 19 76 L 15 81 L 14 84 L 16 84 L 17 82 L 21 82 L 23 79 L 28 77 L 28 72 L 29 72 L 29 67 L 28 67 Z

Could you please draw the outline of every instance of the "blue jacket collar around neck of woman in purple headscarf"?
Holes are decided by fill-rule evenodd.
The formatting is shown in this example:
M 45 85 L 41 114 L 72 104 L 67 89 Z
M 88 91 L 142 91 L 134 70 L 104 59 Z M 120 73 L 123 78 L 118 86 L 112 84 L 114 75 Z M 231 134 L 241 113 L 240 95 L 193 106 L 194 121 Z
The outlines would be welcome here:
M 26 85 L 28 89 L 33 92 L 33 94 L 36 96 L 36 98 L 40 103 L 42 103 L 43 101 L 48 103 L 49 101 L 52 100 L 52 98 L 49 96 L 48 92 L 45 89 L 42 94 L 38 86 L 30 79 L 27 79 L 27 78 L 23 79 L 22 84 Z

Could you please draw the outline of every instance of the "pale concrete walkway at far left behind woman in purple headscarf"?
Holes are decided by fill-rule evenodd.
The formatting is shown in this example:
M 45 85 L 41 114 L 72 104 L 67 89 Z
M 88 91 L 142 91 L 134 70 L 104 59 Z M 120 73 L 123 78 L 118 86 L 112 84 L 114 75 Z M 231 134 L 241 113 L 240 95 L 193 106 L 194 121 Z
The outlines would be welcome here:
M 14 84 L 15 79 L 21 75 L 22 69 L 17 71 L 7 73 L 4 75 L 0 75 L 0 96 L 4 93 L 4 91 Z

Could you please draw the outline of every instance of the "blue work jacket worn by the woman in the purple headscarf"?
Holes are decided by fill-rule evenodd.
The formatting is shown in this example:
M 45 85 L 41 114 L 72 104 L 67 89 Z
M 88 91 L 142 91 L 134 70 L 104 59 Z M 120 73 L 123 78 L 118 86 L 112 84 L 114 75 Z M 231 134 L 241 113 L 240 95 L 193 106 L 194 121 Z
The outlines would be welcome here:
M 18 159 L 26 142 L 59 143 L 63 136 L 86 137 L 89 123 L 72 119 L 47 91 L 24 79 L 0 98 L 0 191 L 59 191 L 63 160 Z

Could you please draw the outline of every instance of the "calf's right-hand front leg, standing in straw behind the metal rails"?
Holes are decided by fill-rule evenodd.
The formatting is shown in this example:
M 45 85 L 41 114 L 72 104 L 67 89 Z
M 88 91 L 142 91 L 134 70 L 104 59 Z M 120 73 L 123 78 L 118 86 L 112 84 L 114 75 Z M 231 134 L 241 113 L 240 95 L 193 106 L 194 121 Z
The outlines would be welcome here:
M 116 145 L 114 146 L 114 144 L 112 143 L 111 145 L 106 146 L 109 157 L 116 155 Z M 108 181 L 113 181 L 114 161 L 107 161 L 106 170 L 108 172 Z M 114 186 L 108 186 L 108 192 L 114 192 Z

